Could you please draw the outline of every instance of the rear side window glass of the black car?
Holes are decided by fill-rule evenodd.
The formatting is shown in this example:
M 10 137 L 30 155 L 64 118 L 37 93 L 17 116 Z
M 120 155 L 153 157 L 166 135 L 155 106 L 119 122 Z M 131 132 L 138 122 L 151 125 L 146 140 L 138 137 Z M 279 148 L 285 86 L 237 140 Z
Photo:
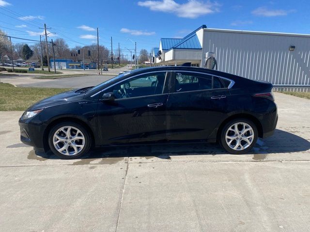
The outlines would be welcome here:
M 189 72 L 175 73 L 174 92 L 187 92 L 216 88 L 225 88 L 225 84 L 217 76 Z

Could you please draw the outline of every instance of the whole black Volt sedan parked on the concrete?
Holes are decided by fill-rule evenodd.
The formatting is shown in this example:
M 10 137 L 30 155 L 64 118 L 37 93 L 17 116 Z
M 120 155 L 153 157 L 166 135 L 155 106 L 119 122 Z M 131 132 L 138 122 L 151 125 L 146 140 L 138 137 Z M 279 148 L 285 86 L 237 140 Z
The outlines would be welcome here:
M 19 126 L 23 143 L 74 159 L 94 146 L 183 142 L 219 142 L 243 154 L 272 135 L 277 121 L 270 83 L 162 66 L 37 102 Z

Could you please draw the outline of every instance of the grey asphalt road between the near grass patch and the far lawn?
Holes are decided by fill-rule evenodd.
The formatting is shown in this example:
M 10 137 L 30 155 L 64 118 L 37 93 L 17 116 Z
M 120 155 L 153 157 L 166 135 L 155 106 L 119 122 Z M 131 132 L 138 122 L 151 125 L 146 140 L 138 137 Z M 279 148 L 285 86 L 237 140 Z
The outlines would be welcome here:
M 1 77 L 6 83 L 16 85 L 17 87 L 51 87 L 51 88 L 82 88 L 88 86 L 96 86 L 110 78 L 113 75 L 91 75 L 91 76 L 75 76 L 58 79 L 32 79 L 29 77 Z

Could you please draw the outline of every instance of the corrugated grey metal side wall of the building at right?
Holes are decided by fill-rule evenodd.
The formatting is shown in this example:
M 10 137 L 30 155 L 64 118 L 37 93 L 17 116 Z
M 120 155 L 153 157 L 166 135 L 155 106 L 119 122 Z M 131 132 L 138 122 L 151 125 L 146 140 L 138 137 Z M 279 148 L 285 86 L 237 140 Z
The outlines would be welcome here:
M 294 51 L 289 51 L 290 45 Z M 202 52 L 209 51 L 215 53 L 219 71 L 274 85 L 296 85 L 288 88 L 291 91 L 309 89 L 298 88 L 310 85 L 309 36 L 205 29 Z

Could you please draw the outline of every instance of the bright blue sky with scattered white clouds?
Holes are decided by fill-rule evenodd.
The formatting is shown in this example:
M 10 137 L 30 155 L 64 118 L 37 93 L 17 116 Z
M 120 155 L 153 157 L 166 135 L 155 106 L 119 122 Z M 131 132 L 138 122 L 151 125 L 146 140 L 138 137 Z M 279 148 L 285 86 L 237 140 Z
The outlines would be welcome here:
M 181 38 L 208 28 L 310 34 L 307 0 L 0 0 L 0 29 L 9 35 L 39 39 L 43 24 L 70 47 L 96 42 L 113 49 L 120 43 L 137 51 L 159 46 L 160 38 Z M 4 7 L 4 8 L 3 8 Z M 24 17 L 23 17 L 24 16 Z M 40 26 L 41 25 L 41 26 Z M 130 39 L 130 40 L 129 40 Z M 14 42 L 20 42 L 14 40 Z

